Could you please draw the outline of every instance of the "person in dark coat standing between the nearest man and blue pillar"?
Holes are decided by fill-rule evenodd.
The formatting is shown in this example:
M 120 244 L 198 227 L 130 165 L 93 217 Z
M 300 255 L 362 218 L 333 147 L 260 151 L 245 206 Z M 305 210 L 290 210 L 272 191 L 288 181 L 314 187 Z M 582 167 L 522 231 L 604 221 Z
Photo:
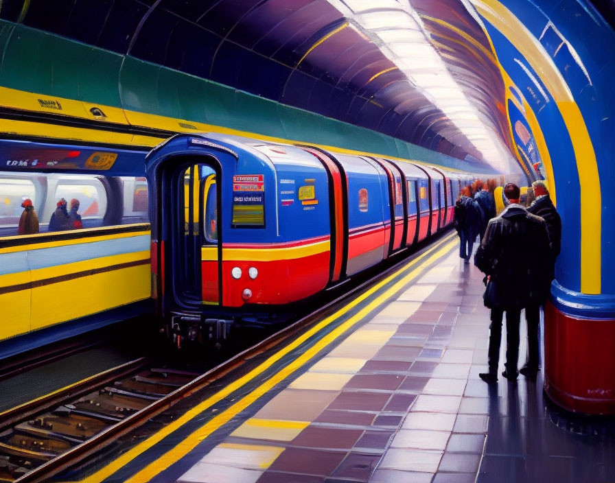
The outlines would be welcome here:
M 527 322 L 527 352 L 525 365 L 519 370 L 526 377 L 535 377 L 539 369 L 538 361 L 538 326 L 540 323 L 540 305 L 544 305 L 550 290 L 550 284 L 555 279 L 555 259 L 561 249 L 561 218 L 549 196 L 544 182 L 534 181 L 532 188 L 536 199 L 527 209 L 529 213 L 541 217 L 546 223 L 549 234 L 550 254 L 548 257 L 548 276 L 545 279 L 546 287 L 544 298 L 537 303 L 525 307 L 525 320 Z

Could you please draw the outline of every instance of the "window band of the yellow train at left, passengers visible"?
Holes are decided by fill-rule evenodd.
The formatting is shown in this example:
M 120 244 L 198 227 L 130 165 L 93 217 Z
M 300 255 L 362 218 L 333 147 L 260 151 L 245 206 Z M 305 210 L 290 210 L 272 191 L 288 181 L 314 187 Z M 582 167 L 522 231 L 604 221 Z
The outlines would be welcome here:
M 145 178 L 0 173 L 0 237 L 148 222 Z

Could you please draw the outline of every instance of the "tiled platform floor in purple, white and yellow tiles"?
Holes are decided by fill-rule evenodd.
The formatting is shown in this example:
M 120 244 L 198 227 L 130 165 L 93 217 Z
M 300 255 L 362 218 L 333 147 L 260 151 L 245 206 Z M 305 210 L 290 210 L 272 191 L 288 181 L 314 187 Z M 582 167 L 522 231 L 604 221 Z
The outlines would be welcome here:
M 478 378 L 482 278 L 455 250 L 443 257 L 178 481 L 615 481 L 612 423 L 559 418 L 542 375 Z M 520 365 L 525 353 L 522 337 Z

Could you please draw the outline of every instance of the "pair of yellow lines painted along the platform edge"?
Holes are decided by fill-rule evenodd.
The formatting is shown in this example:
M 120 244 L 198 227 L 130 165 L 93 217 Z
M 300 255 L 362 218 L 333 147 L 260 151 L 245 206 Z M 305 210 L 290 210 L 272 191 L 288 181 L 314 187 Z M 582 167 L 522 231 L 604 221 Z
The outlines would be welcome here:
M 452 239 L 453 241 L 451 241 Z M 335 314 L 325 318 L 325 320 L 319 322 L 317 325 L 312 327 L 312 329 L 306 331 L 305 333 L 303 333 L 303 335 L 300 335 L 299 338 L 284 346 L 277 353 L 269 357 L 268 360 L 251 370 L 248 374 L 244 375 L 243 377 L 240 377 L 240 379 L 237 379 L 236 381 L 231 382 L 231 384 L 225 386 L 222 390 L 220 390 L 220 392 L 213 394 L 212 396 L 208 397 L 207 399 L 196 405 L 191 410 L 188 410 L 185 414 L 180 416 L 175 421 L 172 421 L 170 424 L 165 426 L 156 434 L 153 434 L 148 439 L 144 440 L 142 443 L 139 443 L 137 446 L 126 451 L 126 453 L 119 456 L 119 458 L 108 464 L 106 467 L 103 467 L 96 473 L 89 475 L 84 481 L 87 481 L 88 483 L 102 482 L 102 480 L 108 478 L 108 476 L 115 473 L 115 471 L 119 470 L 121 467 L 124 467 L 130 461 L 137 458 L 137 456 L 139 456 L 141 453 L 148 450 L 150 447 L 156 445 L 156 443 L 159 443 L 163 438 L 174 432 L 176 429 L 183 426 L 185 423 L 188 423 L 203 411 L 207 410 L 207 408 L 211 408 L 213 404 L 217 403 L 218 401 L 221 401 L 225 397 L 229 396 L 229 394 L 232 394 L 238 388 L 241 388 L 248 382 L 258 377 L 266 369 L 270 368 L 270 366 L 275 364 L 275 362 L 279 361 L 282 357 L 284 357 L 288 353 L 292 353 L 292 351 L 297 349 L 297 347 L 303 344 L 303 342 L 308 340 L 310 337 L 327 327 L 327 325 L 337 320 L 340 316 L 343 316 L 345 313 L 347 313 L 347 311 L 349 311 L 353 307 L 356 307 L 356 305 L 360 304 L 362 301 L 364 301 L 366 298 L 368 298 L 375 292 L 378 292 L 378 290 L 380 290 L 388 282 L 396 279 L 399 274 L 404 272 L 404 270 L 406 270 L 409 266 L 416 265 L 417 263 L 419 263 L 419 261 L 422 261 L 422 263 L 417 266 L 417 268 L 404 276 L 403 279 L 397 281 L 395 285 L 386 290 L 386 292 L 380 294 L 378 298 L 363 307 L 360 311 L 358 311 L 357 314 L 349 318 L 349 320 L 344 322 L 342 325 L 340 325 L 327 335 L 323 336 L 323 338 L 316 342 L 314 346 L 301 353 L 301 355 L 299 355 L 296 360 L 290 362 L 287 366 L 281 368 L 278 373 L 276 373 L 269 379 L 266 379 L 266 381 L 264 381 L 261 386 L 255 388 L 252 392 L 246 394 L 246 396 L 242 397 L 242 399 L 237 401 L 230 408 L 222 411 L 220 414 L 211 419 L 211 421 L 205 423 L 205 425 L 187 436 L 187 438 L 185 438 L 185 440 L 183 440 L 178 446 L 170 449 L 163 456 L 161 456 L 161 458 L 154 460 L 153 462 L 148 464 L 147 467 L 145 467 L 144 469 L 133 475 L 132 478 L 127 480 L 127 482 L 131 483 L 149 481 L 155 475 L 163 471 L 163 469 L 169 467 L 170 464 L 172 464 L 179 458 L 185 456 L 185 454 L 191 451 L 196 445 L 198 445 L 198 443 L 207 438 L 209 434 L 214 432 L 220 426 L 224 425 L 224 423 L 227 423 L 228 421 L 233 419 L 233 417 L 237 416 L 237 414 L 239 414 L 242 410 L 248 408 L 249 405 L 259 399 L 259 397 L 261 397 L 262 395 L 266 394 L 266 392 L 272 389 L 276 384 L 279 384 L 290 374 L 294 373 L 295 370 L 301 368 L 302 366 L 310 362 L 312 357 L 314 357 L 320 351 L 329 346 L 329 344 L 331 344 L 341 336 L 345 335 L 345 333 L 349 329 L 351 329 L 351 327 L 360 322 L 360 320 L 367 316 L 370 311 L 377 308 L 378 305 L 386 301 L 387 298 L 395 294 L 395 292 L 397 292 L 398 290 L 402 289 L 404 285 L 415 279 L 431 263 L 443 257 L 443 255 L 446 255 L 454 246 L 456 246 L 456 244 L 457 241 L 456 239 L 454 239 L 454 235 L 446 237 L 439 244 L 437 244 L 437 246 L 430 248 L 430 250 L 423 253 L 423 255 L 418 257 L 415 261 L 411 261 L 406 266 L 404 266 L 404 268 L 397 270 L 395 274 L 386 277 L 386 279 L 384 279 L 377 285 L 371 287 L 371 289 L 367 290 L 367 292 L 364 292 L 360 296 L 357 296 L 355 299 L 353 299 L 353 301 L 351 301 L 351 303 L 343 307 L 343 309 L 336 311 Z

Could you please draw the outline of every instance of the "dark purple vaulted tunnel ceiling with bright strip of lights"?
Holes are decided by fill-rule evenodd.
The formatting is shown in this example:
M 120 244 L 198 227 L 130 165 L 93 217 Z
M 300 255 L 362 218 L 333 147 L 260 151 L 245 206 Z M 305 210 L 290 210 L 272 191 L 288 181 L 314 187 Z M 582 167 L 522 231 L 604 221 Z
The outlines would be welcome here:
M 509 172 L 489 41 L 459 0 L 5 0 L 0 16 Z

